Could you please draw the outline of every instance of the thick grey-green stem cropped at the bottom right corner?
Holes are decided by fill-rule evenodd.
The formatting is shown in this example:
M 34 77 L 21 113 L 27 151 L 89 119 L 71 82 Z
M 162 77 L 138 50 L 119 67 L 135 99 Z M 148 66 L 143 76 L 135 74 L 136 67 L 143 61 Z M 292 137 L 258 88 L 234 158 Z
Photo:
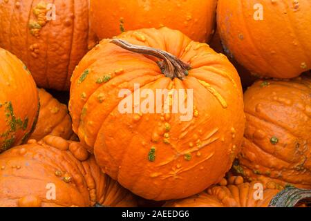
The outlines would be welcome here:
M 311 203 L 311 190 L 289 187 L 279 192 L 271 200 L 270 207 L 294 207 L 298 203 Z

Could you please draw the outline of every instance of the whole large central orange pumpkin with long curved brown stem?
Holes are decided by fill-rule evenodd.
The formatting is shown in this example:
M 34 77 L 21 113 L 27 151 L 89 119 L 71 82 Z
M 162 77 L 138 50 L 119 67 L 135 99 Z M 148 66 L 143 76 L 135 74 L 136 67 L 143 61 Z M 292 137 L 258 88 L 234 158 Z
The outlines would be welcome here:
M 73 73 L 69 110 L 79 139 L 107 174 L 143 198 L 185 198 L 217 183 L 232 165 L 244 131 L 241 81 L 234 66 L 207 44 L 169 28 L 117 38 L 101 41 Z M 192 89 L 193 105 L 187 99 L 191 93 L 184 97 L 190 101 L 190 118 L 163 113 L 164 104 L 172 104 L 167 99 L 153 103 L 158 113 L 154 108 L 123 114 L 120 90 L 131 93 L 135 84 L 154 94 Z M 146 101 L 143 95 L 135 99 Z

